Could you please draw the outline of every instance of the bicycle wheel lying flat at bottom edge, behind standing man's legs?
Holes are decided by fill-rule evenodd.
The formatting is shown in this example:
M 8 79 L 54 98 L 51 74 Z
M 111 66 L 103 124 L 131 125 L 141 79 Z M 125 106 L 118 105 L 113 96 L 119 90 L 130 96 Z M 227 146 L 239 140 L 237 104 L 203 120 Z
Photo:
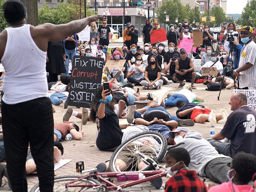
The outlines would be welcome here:
M 54 178 L 54 187 L 53 187 L 53 192 L 75 192 L 75 191 L 93 191 L 93 192 L 103 192 L 103 187 L 93 189 L 92 187 L 88 188 L 85 187 L 84 189 L 81 187 L 68 187 L 66 189 L 65 184 L 73 181 L 75 179 L 80 178 L 81 176 L 63 176 L 63 177 L 56 177 Z M 72 184 L 100 184 L 100 182 L 96 179 L 93 178 L 85 178 L 82 180 L 79 180 L 77 182 L 74 182 Z M 36 184 L 30 192 L 40 192 L 39 189 L 39 184 Z

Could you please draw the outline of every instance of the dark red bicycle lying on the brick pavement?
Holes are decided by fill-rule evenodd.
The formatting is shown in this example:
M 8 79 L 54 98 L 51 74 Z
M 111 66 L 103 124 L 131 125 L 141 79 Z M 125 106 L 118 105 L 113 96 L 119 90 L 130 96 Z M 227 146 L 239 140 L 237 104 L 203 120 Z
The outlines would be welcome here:
M 139 141 L 138 139 L 142 139 L 143 137 L 145 137 L 146 139 L 148 139 L 149 137 L 153 137 L 153 138 L 158 138 L 160 139 L 160 143 L 162 143 L 162 147 L 161 147 L 161 154 L 157 153 L 157 155 L 153 158 L 146 156 L 145 154 L 141 153 L 139 151 L 140 148 L 140 144 L 136 141 Z M 137 139 L 136 139 L 137 138 Z M 145 139 L 144 138 L 144 139 Z M 84 164 L 82 161 L 77 162 L 76 163 L 76 171 L 80 174 L 83 173 L 87 173 L 89 172 L 89 174 L 85 175 L 85 176 L 63 176 L 63 177 L 57 177 L 54 179 L 54 192 L 57 191 L 63 191 L 63 192 L 70 192 L 70 191 L 96 191 L 96 192 L 103 192 L 108 191 L 108 190 L 117 190 L 120 192 L 125 192 L 124 188 L 130 187 L 130 186 L 134 186 L 136 184 L 140 184 L 146 181 L 152 181 L 154 179 L 160 178 L 160 177 L 167 177 L 170 178 L 171 175 L 167 173 L 166 169 L 162 167 L 162 165 L 160 165 L 156 159 L 160 159 L 161 157 L 163 157 L 163 155 L 166 152 L 167 149 L 167 141 L 166 138 L 157 132 L 144 132 L 138 135 L 135 135 L 133 137 L 131 137 L 130 139 L 128 139 L 125 143 L 121 144 L 116 151 L 113 154 L 113 158 L 111 157 L 111 159 L 113 159 L 113 161 L 116 159 L 116 154 L 120 154 L 119 152 L 122 151 L 125 146 L 130 145 L 131 143 L 134 144 L 134 151 L 133 154 L 135 155 L 134 157 L 137 158 L 137 160 L 141 160 L 143 161 L 147 166 L 143 168 L 143 170 L 148 169 L 148 168 L 154 168 L 155 170 L 153 171 L 129 171 L 129 172 L 117 172 L 117 170 L 115 169 L 115 172 L 103 172 L 103 173 L 98 173 L 97 172 L 97 168 L 93 168 L 93 169 L 89 169 L 89 170 L 84 170 Z M 166 144 L 166 145 L 165 145 Z M 170 148 L 174 148 L 177 147 L 181 144 L 184 143 L 180 143 L 178 145 L 169 147 Z M 162 154 L 163 153 L 163 154 Z M 115 167 L 112 166 L 112 168 Z M 141 173 L 145 176 L 145 178 L 142 179 L 138 179 L 135 181 L 131 181 L 128 183 L 124 183 L 124 184 L 114 184 L 111 180 L 111 178 L 116 178 L 117 176 L 119 176 L 120 174 L 130 174 L 130 173 L 134 173 L 134 174 L 138 174 Z M 39 192 L 39 185 L 35 185 L 32 189 L 31 192 Z

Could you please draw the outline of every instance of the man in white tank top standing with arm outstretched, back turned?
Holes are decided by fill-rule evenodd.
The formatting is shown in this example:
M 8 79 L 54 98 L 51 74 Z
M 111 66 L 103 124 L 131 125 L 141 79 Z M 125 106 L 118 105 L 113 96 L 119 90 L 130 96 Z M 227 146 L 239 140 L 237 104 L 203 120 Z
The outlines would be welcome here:
M 46 97 L 45 70 L 48 41 L 60 41 L 104 17 L 95 15 L 68 24 L 34 27 L 26 24 L 26 8 L 19 0 L 4 3 L 3 14 L 10 27 L 0 33 L 0 58 L 5 68 L 2 128 L 12 190 L 28 191 L 25 162 L 30 143 L 40 191 L 53 191 L 54 123 L 52 104 Z M 11 54 L 13 49 L 17 54 Z

